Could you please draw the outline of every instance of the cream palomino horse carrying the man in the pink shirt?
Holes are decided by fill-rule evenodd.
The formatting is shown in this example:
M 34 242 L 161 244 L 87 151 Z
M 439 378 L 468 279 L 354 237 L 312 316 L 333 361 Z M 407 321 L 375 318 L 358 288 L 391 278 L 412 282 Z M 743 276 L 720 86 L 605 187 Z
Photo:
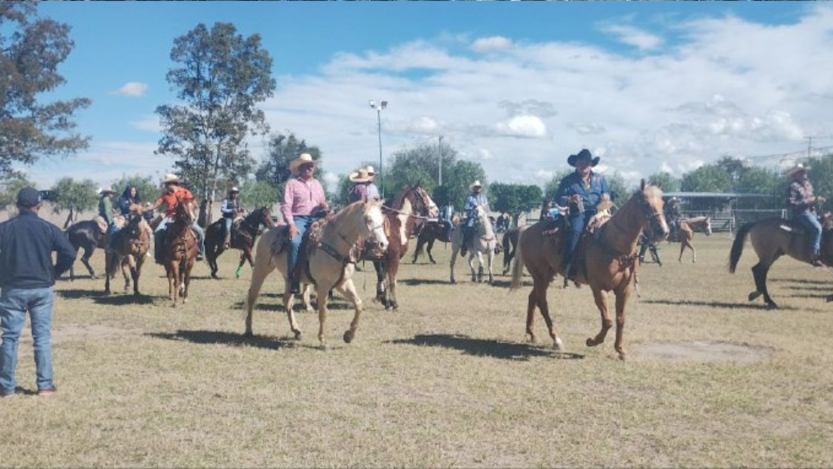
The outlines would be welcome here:
M 309 235 L 320 229 L 320 237 L 313 246 L 302 244 L 302 252 L 298 262 L 307 259 L 307 268 L 303 271 L 302 283 L 314 284 L 317 292 L 318 303 L 318 339 L 322 348 L 327 348 L 327 337 L 324 336 L 324 327 L 327 325 L 327 293 L 332 288 L 347 297 L 356 308 L 350 329 L 344 332 L 344 342 L 350 343 L 356 336 L 356 329 L 359 325 L 359 316 L 362 314 L 362 299 L 356 292 L 353 285 L 352 275 L 356 270 L 356 262 L 350 256 L 352 248 L 359 239 L 372 237 L 380 249 L 387 247 L 385 237 L 384 216 L 382 215 L 382 202 L 354 202 L 332 218 L 317 222 L 321 223 L 320 228 L 315 226 L 307 230 Z M 283 274 L 284 292 L 283 307 L 287 311 L 289 327 L 295 334 L 296 339 L 301 338 L 301 331 L 295 322 L 295 312 L 292 311 L 292 299 L 294 295 L 290 292 L 290 282 L 287 272 L 287 250 L 285 249 L 287 227 L 273 227 L 263 233 L 260 242 L 257 243 L 257 255 L 255 256 L 255 270 L 252 272 L 252 283 L 246 299 L 246 335 L 252 335 L 252 309 L 257 302 L 257 295 L 260 293 L 263 281 L 277 267 Z M 312 237 L 307 237 L 312 242 Z

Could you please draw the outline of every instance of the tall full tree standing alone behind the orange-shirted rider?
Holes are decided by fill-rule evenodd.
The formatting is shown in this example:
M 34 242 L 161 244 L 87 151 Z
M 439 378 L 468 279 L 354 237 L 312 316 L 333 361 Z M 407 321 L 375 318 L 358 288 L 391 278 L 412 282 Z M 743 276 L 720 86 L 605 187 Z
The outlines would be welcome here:
M 208 201 L 211 222 L 217 187 L 241 181 L 254 164 L 246 137 L 268 132 L 257 103 L 275 89 L 272 57 L 260 35 L 243 37 L 232 23 L 217 22 L 177 37 L 171 60 L 177 67 L 167 82 L 184 104 L 157 107 L 157 153 L 176 158 L 182 177 Z

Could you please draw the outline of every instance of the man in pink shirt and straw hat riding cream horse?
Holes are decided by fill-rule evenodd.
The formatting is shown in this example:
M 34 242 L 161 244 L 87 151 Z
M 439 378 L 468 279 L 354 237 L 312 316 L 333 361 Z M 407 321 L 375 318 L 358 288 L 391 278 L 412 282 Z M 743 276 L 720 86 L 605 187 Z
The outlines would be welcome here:
M 315 221 L 318 214 L 330 210 L 324 195 L 324 187 L 322 187 L 321 182 L 312 177 L 315 167 L 316 162 L 309 153 L 302 153 L 301 156 L 289 163 L 289 169 L 295 177 L 287 181 L 281 204 L 283 220 L 289 225 L 287 267 L 290 292 L 296 295 L 301 292 L 301 285 L 295 267 L 298 262 L 298 253 L 301 251 L 304 233 L 307 232 L 307 227 Z

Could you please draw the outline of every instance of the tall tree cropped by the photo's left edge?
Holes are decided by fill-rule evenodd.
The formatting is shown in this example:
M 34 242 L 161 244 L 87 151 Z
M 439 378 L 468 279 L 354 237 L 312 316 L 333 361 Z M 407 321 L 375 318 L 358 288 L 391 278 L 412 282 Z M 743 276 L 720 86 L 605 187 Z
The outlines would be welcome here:
M 89 137 L 74 132 L 73 117 L 90 100 L 43 101 L 66 82 L 57 66 L 74 46 L 69 29 L 38 17 L 36 3 L 0 3 L 0 174 L 87 147 Z

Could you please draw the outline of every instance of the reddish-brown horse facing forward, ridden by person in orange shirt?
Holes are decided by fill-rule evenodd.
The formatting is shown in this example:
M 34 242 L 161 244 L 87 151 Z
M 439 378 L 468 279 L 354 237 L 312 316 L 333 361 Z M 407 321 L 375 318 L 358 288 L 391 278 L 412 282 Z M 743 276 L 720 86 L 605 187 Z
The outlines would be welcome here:
M 192 230 L 194 222 L 193 207 L 187 202 L 177 205 L 173 222 L 165 230 L 165 247 L 162 262 L 167 272 L 167 296 L 177 307 L 177 299 L 182 297 L 182 304 L 188 301 L 188 284 L 191 283 L 191 269 L 197 258 L 199 246 L 197 236 Z

